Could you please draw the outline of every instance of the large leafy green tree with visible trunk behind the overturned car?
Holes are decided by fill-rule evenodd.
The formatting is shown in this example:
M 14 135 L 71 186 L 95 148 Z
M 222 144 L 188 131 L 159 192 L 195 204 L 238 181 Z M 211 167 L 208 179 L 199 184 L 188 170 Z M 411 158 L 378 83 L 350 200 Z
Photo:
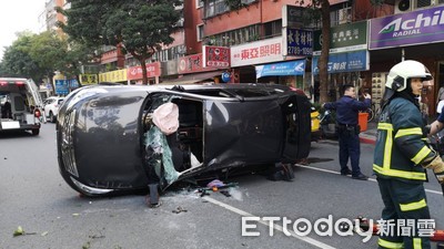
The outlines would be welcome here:
M 69 0 L 71 8 L 58 9 L 67 17 L 59 23 L 74 41 L 91 45 L 113 45 L 140 62 L 143 84 L 148 84 L 145 62 L 162 45 L 174 40 L 180 13 L 176 0 Z

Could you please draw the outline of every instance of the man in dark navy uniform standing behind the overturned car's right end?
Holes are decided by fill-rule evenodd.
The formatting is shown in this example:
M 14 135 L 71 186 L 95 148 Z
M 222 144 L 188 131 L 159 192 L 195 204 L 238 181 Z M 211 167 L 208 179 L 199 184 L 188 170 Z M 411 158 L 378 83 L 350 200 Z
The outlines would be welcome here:
M 326 110 L 336 111 L 336 125 L 340 142 L 340 165 L 341 175 L 352 175 L 353 179 L 366 180 L 367 176 L 361 173 L 360 168 L 360 126 L 357 122 L 359 111 L 365 111 L 371 106 L 371 96 L 364 94 L 364 101 L 356 100 L 356 92 L 353 85 L 343 86 L 343 96 L 336 102 L 324 103 Z M 347 166 L 351 162 L 352 170 Z

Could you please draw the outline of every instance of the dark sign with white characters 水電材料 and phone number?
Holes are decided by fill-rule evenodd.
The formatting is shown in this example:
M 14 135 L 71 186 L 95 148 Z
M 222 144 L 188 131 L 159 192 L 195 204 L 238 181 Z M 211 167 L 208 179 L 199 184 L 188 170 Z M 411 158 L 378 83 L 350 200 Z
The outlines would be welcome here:
M 286 35 L 283 38 L 284 55 L 312 55 L 313 54 L 313 32 L 284 28 Z

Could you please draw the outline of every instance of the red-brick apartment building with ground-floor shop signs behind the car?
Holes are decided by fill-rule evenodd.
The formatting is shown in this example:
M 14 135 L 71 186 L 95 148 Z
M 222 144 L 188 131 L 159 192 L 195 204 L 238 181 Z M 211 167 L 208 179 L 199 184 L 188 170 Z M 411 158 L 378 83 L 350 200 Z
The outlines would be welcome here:
M 354 83 L 379 102 L 389 70 L 412 59 L 424 63 L 435 79 L 426 83 L 422 96 L 425 111 L 434 114 L 437 89 L 444 82 L 443 1 L 331 0 L 331 98 L 337 97 L 343 84 Z M 148 62 L 150 83 L 279 83 L 303 89 L 315 100 L 320 19 L 294 0 L 241 3 L 185 0 L 178 9 L 183 19 L 174 42 Z M 382 32 L 392 25 L 395 32 Z M 302 43 L 311 43 L 311 49 Z M 125 82 L 141 82 L 138 62 L 115 48 L 102 54 L 101 63 L 104 69 L 127 70 Z

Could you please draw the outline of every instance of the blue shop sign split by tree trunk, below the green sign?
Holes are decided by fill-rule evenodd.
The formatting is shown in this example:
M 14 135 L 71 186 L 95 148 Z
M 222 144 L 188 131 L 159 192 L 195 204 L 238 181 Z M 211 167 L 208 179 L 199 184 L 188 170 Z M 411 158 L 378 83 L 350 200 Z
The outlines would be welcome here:
M 312 72 L 319 74 L 319 56 L 313 56 Z M 330 54 L 327 71 L 329 73 L 344 73 L 370 70 L 369 51 L 355 51 L 346 53 Z

